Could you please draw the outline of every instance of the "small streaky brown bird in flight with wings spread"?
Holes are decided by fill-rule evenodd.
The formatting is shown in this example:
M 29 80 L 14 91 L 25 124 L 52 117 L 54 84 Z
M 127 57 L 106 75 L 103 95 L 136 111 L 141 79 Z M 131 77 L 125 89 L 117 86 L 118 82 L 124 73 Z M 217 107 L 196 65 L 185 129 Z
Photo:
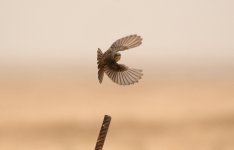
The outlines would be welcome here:
M 143 76 L 141 69 L 129 68 L 119 64 L 121 59 L 120 51 L 135 48 L 142 44 L 141 36 L 137 34 L 125 36 L 116 40 L 110 48 L 103 53 L 100 48 L 97 50 L 98 80 L 101 84 L 104 73 L 116 84 L 132 85 L 137 83 Z

